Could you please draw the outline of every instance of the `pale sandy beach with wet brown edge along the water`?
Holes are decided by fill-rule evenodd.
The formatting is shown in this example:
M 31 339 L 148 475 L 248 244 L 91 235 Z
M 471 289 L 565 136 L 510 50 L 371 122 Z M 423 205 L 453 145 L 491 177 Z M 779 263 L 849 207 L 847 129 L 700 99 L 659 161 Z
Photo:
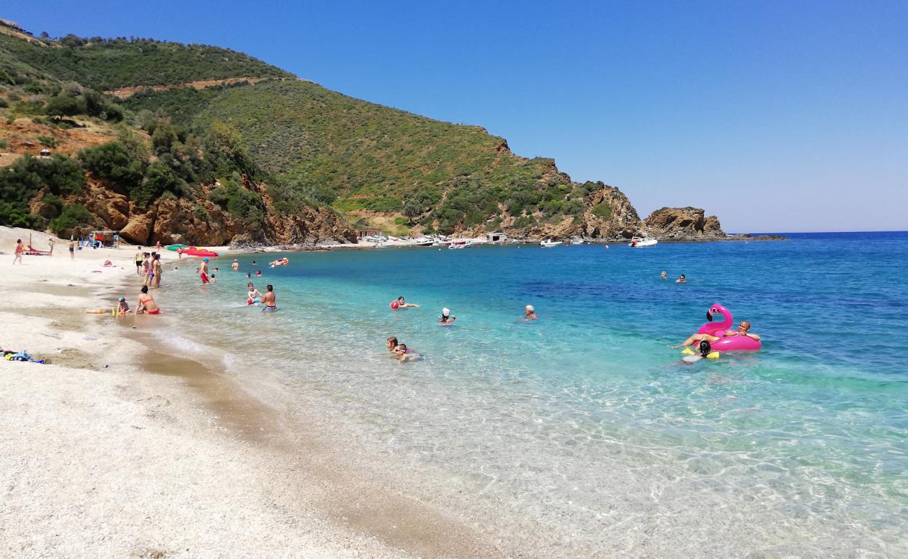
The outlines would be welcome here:
M 85 314 L 120 294 L 134 305 L 132 248 L 71 260 L 61 241 L 14 266 L 27 233 L 0 227 L 0 346 L 51 363 L 0 361 L 0 556 L 504 555 L 457 512 L 332 453 L 280 404 L 155 351 L 157 317 Z

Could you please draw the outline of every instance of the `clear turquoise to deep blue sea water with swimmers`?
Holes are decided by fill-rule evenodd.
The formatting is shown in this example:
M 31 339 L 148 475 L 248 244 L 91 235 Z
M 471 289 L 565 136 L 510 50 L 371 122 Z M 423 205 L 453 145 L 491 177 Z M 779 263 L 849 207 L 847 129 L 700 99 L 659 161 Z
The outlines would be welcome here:
M 241 379 L 267 370 L 492 533 L 577 556 L 908 554 L 906 233 L 265 265 L 280 255 L 215 259 L 207 288 L 194 264 L 165 275 L 169 341 L 220 347 Z M 280 312 L 245 306 L 255 269 Z M 398 295 L 420 307 L 392 311 Z M 668 345 L 714 303 L 763 350 L 681 364 Z M 396 363 L 389 335 L 424 358 Z

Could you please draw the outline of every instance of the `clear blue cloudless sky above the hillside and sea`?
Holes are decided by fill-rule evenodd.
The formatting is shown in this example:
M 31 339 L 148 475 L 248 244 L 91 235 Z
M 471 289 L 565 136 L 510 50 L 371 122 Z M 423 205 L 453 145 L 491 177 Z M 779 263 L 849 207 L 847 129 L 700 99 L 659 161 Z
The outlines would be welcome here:
M 908 229 L 908 2 L 17 2 L 35 34 L 229 46 L 485 126 L 726 231 Z

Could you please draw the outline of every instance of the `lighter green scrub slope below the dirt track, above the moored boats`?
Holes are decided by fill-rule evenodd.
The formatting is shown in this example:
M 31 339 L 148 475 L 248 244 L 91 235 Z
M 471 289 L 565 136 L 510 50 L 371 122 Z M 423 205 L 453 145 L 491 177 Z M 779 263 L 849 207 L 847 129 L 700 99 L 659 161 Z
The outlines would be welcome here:
M 513 155 L 504 138 L 375 105 L 301 81 L 146 91 L 124 102 L 175 125 L 235 126 L 252 159 L 282 183 L 345 213 L 406 215 L 453 231 L 508 213 L 518 227 L 584 210 L 603 185 L 574 185 L 551 159 Z M 490 225 L 491 226 L 491 225 Z

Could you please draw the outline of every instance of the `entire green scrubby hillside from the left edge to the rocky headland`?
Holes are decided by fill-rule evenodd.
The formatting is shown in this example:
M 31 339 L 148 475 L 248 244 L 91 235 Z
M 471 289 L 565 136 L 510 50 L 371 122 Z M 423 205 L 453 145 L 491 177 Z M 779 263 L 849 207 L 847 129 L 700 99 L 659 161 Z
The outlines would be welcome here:
M 265 79 L 145 89 L 122 100 L 95 91 L 242 77 Z M 27 40 L 0 33 L 0 101 L 8 107 L 7 122 L 25 116 L 59 127 L 87 115 L 141 130 L 150 137 L 147 153 L 134 146 L 141 134 L 125 129 L 118 135 L 133 139 L 120 143 L 133 147 L 112 148 L 104 156 L 122 161 L 113 170 L 100 168 L 108 184 L 141 193 L 143 205 L 173 195 L 242 214 L 258 204 L 254 196 L 237 188 L 202 188 L 216 178 L 241 184 L 240 174 L 267 183 L 282 212 L 328 206 L 350 224 L 398 234 L 482 227 L 518 234 L 557 228 L 564 235 L 566 226 L 577 229 L 591 215 L 600 221 L 612 215 L 606 185 L 573 183 L 553 160 L 514 155 L 504 138 L 479 126 L 413 115 L 291 77 L 212 46 L 74 35 Z M 90 160 L 81 157 L 83 166 Z M 150 168 L 154 185 L 143 188 Z M 122 177 L 129 185 L 117 185 Z M 616 193 L 609 189 L 608 200 L 617 200 Z M 604 231 L 600 225 L 588 229 Z

